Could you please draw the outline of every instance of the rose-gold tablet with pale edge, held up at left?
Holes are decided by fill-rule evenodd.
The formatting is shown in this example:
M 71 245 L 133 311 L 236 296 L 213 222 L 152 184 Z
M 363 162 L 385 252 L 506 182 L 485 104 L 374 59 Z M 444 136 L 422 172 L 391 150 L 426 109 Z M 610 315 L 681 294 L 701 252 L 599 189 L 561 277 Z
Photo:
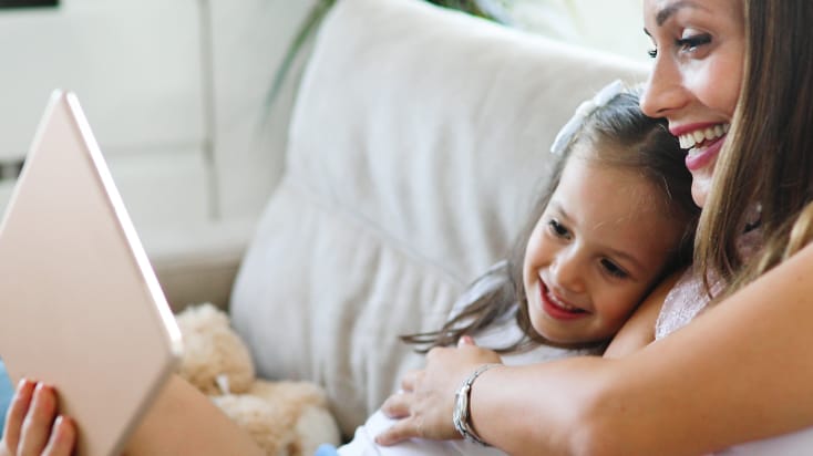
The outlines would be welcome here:
M 119 454 L 173 372 L 181 333 L 76 97 L 55 92 L 0 225 L 0 357 Z

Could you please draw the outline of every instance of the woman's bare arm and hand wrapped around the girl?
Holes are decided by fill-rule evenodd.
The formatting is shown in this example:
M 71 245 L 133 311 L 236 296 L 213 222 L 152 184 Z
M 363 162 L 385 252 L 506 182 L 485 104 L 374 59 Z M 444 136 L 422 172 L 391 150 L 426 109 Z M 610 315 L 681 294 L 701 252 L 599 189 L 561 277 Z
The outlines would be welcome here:
M 809 246 L 622 359 L 492 369 L 472 387 L 472 424 L 517 455 L 701 454 L 813 426 L 812 270 Z M 480 364 L 470 355 L 436 351 L 410 375 L 413 392 L 387 404 L 409 416 L 381 441 L 416 435 L 418 424 L 454 436 L 454 392 Z

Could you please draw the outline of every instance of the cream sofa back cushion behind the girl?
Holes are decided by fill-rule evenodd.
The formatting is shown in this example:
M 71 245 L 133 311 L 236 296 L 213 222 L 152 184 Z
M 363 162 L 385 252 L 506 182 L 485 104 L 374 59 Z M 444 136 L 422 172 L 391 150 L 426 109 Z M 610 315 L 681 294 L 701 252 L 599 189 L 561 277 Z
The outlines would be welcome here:
M 350 434 L 422 363 L 397 336 L 504 257 L 558 126 L 644 75 L 421 0 L 337 2 L 231 293 L 259 373 L 325 385 Z

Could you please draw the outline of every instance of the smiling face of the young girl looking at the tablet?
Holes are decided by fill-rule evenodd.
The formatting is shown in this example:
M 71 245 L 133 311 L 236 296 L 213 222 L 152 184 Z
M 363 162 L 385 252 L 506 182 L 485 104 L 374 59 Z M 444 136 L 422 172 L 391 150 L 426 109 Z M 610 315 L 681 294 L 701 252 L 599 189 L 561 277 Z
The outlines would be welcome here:
M 658 193 L 635 170 L 568 159 L 525 251 L 536 332 L 565 344 L 615 335 L 682 232 Z

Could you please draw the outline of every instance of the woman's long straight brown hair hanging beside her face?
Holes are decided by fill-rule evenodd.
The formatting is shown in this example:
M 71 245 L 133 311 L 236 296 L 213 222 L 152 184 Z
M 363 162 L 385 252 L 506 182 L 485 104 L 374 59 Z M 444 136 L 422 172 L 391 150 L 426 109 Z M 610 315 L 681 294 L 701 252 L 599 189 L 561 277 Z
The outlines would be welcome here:
M 743 3 L 743 82 L 696 237 L 699 270 L 730 283 L 727 293 L 782 260 L 813 197 L 813 2 Z M 743 266 L 737 239 L 755 209 L 765 247 Z

